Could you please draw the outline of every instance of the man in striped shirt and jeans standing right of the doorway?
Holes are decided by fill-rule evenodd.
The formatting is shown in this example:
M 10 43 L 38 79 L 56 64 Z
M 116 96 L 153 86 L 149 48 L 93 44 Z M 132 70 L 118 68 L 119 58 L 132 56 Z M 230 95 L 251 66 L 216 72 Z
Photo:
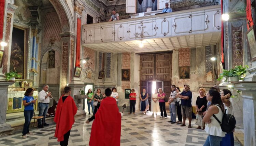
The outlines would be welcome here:
M 172 92 L 171 92 L 171 95 L 170 95 L 169 101 L 168 101 L 170 114 L 171 114 L 171 121 L 168 121 L 168 122 L 170 122 L 171 124 L 176 123 L 176 105 L 175 105 L 176 98 L 175 98 L 175 96 L 177 95 L 177 92 L 175 91 L 175 88 L 176 88 L 176 86 L 172 85 Z

